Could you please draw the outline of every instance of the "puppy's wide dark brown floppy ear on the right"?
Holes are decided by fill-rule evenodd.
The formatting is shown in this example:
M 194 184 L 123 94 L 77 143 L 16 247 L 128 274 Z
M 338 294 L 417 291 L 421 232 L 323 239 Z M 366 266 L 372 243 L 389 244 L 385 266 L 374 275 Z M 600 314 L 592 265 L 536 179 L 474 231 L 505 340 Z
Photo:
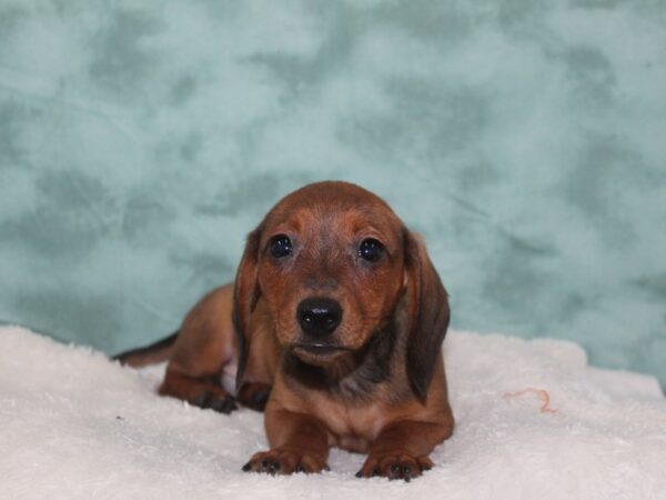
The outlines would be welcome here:
M 405 250 L 410 313 L 407 376 L 416 396 L 425 400 L 451 312 L 448 296 L 422 238 L 407 232 Z

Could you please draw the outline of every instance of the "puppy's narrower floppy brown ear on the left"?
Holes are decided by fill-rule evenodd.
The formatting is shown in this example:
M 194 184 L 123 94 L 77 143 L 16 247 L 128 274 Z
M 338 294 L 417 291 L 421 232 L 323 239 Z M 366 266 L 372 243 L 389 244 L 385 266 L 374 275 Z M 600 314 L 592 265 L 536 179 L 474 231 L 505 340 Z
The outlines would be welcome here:
M 245 250 L 236 272 L 233 290 L 233 327 L 239 344 L 239 370 L 236 372 L 236 390 L 243 381 L 243 372 L 250 352 L 249 322 L 250 316 L 261 296 L 258 280 L 259 244 L 262 227 L 260 226 L 248 236 Z

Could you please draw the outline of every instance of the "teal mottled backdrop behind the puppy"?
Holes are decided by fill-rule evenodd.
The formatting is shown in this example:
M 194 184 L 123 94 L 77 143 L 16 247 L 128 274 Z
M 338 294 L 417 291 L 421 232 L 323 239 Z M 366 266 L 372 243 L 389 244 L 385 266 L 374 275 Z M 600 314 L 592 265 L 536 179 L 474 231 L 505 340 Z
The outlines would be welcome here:
M 453 326 L 666 383 L 663 0 L 0 0 L 0 319 L 171 332 L 290 190 L 422 231 Z

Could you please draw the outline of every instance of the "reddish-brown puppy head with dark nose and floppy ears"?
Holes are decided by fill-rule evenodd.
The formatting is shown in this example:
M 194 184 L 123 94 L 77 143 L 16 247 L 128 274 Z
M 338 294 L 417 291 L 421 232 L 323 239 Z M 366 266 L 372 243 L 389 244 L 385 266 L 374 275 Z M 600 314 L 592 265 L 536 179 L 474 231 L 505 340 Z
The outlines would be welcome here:
M 408 300 L 400 301 L 404 293 Z M 245 351 L 260 298 L 282 346 L 324 368 L 362 349 L 405 303 L 407 372 L 415 391 L 425 393 L 444 338 L 431 323 L 448 317 L 446 293 L 423 243 L 379 197 L 320 182 L 282 199 L 249 236 L 236 277 L 234 321 Z

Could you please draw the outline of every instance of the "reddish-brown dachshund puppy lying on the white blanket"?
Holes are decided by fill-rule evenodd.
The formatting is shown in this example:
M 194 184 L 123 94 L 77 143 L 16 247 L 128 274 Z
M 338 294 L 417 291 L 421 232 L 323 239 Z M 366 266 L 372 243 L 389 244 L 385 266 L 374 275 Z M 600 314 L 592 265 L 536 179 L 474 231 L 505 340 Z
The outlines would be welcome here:
M 421 239 L 371 192 L 319 182 L 265 216 L 235 282 L 205 296 L 178 334 L 118 359 L 169 359 L 163 396 L 225 413 L 236 400 L 265 407 L 271 449 L 245 471 L 320 472 L 339 447 L 367 453 L 359 477 L 410 480 L 453 432 L 448 319 Z M 235 398 L 224 373 L 235 373 Z

